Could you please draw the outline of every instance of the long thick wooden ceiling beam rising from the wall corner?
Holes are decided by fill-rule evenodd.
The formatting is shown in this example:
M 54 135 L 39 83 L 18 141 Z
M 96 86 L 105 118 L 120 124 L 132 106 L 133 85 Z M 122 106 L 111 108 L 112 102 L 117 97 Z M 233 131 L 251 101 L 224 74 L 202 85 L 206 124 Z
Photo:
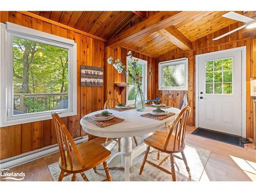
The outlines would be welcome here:
M 171 25 L 177 25 L 185 19 L 189 19 L 191 16 L 201 14 L 197 11 L 161 11 L 158 12 L 142 22 L 136 24 L 130 29 L 127 29 L 113 38 L 106 41 L 106 46 L 117 47 L 122 46 L 126 41 L 133 38 L 140 38 L 144 35 L 148 35 L 159 31 L 163 28 Z

